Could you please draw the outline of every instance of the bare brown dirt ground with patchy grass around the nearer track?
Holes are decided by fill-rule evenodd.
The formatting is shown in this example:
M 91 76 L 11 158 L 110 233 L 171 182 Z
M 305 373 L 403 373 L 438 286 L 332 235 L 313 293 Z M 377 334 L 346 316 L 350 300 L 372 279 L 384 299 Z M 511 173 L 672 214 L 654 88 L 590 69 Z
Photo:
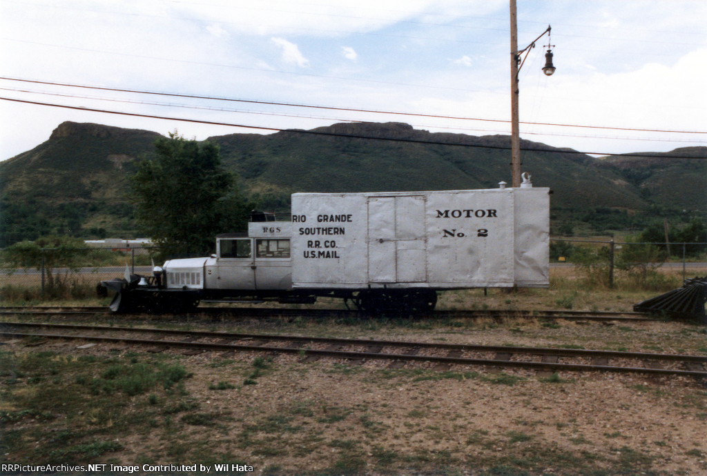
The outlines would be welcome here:
M 706 329 L 679 322 L 128 324 L 707 355 Z M 692 379 L 78 345 L 0 346 L 3 462 L 201 463 L 211 474 L 221 463 L 277 475 L 707 474 L 707 388 Z M 144 391 L 120 383 L 177 367 L 185 374 L 174 384 L 157 374 Z

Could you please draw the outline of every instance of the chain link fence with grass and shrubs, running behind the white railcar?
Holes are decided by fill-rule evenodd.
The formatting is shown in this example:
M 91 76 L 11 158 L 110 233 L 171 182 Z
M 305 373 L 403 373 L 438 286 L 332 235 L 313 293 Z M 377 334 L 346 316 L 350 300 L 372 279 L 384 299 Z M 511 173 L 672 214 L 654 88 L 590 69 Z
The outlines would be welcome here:
M 101 280 L 149 274 L 154 246 L 36 248 L 10 255 L 0 249 L 0 304 L 95 297 Z M 590 239 L 551 239 L 550 266 L 568 268 L 589 285 L 614 287 L 617 278 L 631 279 L 645 290 L 659 287 L 658 270 L 682 270 L 682 278 L 707 268 L 707 243 L 638 243 Z M 157 263 L 157 264 L 161 264 Z

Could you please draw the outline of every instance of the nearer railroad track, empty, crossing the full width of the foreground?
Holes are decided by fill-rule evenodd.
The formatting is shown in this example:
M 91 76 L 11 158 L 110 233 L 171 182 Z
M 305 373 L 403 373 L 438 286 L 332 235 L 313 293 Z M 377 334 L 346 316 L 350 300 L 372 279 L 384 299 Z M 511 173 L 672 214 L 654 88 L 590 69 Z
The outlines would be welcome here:
M 26 332 L 44 328 L 47 332 Z M 20 331 L 25 329 L 25 332 Z M 312 361 L 322 357 L 361 363 L 385 359 L 392 367 L 407 362 L 428 362 L 435 369 L 467 367 L 517 367 L 539 371 L 607 371 L 653 375 L 690 376 L 707 381 L 707 356 L 644 352 L 562 349 L 554 347 L 509 347 L 423 343 L 395 340 L 317 338 L 299 335 L 266 335 L 211 331 L 179 331 L 157 328 L 127 328 L 53 323 L 0 323 L 0 334 L 9 338 L 37 340 L 71 339 L 91 343 L 148 345 L 193 351 L 268 352 L 298 354 Z M 97 335 L 98 334 L 98 335 Z M 146 334 L 144 338 L 136 335 Z

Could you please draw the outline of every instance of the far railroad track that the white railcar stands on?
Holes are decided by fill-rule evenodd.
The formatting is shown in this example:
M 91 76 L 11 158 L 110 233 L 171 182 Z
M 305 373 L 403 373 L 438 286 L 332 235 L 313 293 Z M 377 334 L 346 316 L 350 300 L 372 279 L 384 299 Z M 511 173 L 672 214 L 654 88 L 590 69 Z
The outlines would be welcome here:
M 0 315 L 81 315 L 112 314 L 106 307 L 0 307 Z M 308 317 L 318 319 L 341 319 L 366 317 L 361 311 L 351 309 L 292 309 L 269 307 L 199 307 L 191 314 L 233 317 Z M 559 310 L 506 310 L 506 309 L 464 309 L 431 311 L 419 319 L 566 319 L 582 321 L 658 321 L 648 314 L 617 311 L 559 311 Z

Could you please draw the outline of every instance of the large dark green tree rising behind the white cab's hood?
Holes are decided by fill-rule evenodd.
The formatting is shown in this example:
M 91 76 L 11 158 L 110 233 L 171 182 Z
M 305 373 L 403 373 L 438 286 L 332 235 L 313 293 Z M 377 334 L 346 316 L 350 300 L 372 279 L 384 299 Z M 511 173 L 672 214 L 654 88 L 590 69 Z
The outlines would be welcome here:
M 218 145 L 159 138 L 132 177 L 136 220 L 163 256 L 206 254 L 214 236 L 244 230 L 248 204 L 221 164 Z

